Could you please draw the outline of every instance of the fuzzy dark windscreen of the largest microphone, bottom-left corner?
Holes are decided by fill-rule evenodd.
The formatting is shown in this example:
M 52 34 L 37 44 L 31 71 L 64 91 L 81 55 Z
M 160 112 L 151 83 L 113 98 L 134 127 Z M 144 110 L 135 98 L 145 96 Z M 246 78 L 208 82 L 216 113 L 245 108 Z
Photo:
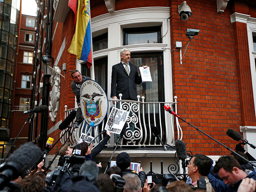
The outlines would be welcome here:
M 42 157 L 42 150 L 35 144 L 29 142 L 21 145 L 16 149 L 6 161 L 9 163 L 17 163 L 20 169 L 29 169 L 36 164 Z M 21 170 L 21 171 L 22 171 Z

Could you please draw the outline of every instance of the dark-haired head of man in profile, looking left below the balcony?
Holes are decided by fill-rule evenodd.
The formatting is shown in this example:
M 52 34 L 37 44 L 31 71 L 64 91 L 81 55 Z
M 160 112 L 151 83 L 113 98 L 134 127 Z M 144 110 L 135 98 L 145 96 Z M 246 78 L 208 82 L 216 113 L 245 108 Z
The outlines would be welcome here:
M 199 176 L 207 176 L 212 167 L 212 159 L 203 155 L 195 154 L 188 164 L 188 176 L 198 174 Z

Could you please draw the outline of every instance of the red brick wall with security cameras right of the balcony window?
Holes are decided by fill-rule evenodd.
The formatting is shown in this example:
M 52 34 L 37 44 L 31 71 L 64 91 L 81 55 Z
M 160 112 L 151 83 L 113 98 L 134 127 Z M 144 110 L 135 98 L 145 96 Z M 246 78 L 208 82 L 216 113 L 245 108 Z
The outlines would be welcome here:
M 200 29 L 188 45 L 180 65 L 178 51 L 172 54 L 173 95 L 178 97 L 178 113 L 189 123 L 211 135 L 230 148 L 234 140 L 226 134 L 228 128 L 238 132 L 241 121 L 239 82 L 236 63 L 236 43 L 234 24 L 230 22 L 230 6 L 225 12 L 217 13 L 215 1 L 187 1 L 192 16 L 181 21 L 179 16 L 171 19 L 171 45 L 189 40 L 185 36 L 187 28 Z M 172 1 L 172 13 L 177 10 L 179 1 Z M 182 48 L 182 55 L 185 51 Z M 205 155 L 220 155 L 227 151 L 207 136 L 205 139 L 186 123 L 180 123 L 183 140 L 192 152 Z M 225 154 L 225 153 L 222 153 Z M 226 153 L 227 154 L 227 153 Z

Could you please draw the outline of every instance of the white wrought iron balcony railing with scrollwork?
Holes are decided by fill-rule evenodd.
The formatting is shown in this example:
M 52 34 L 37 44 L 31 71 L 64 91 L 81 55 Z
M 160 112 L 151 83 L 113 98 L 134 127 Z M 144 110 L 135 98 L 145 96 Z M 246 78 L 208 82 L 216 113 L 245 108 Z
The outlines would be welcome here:
M 164 105 L 171 106 L 172 110 L 177 113 L 177 96 L 174 96 L 174 102 L 145 102 L 145 97 L 138 95 L 137 101 L 132 100 L 122 100 L 122 94 L 119 95 L 120 106 L 122 110 L 132 111 L 127 119 L 128 128 L 124 134 L 124 139 L 122 142 L 122 146 L 137 146 L 137 147 L 158 147 L 161 146 L 159 140 L 156 139 L 155 136 L 152 135 L 152 128 L 155 126 L 158 128 L 160 133 L 160 138 L 163 142 L 174 145 L 175 140 L 182 140 L 182 130 L 178 121 L 178 118 L 175 117 L 176 129 L 174 126 L 173 116 L 164 111 Z M 112 103 L 112 99 L 109 99 L 108 105 L 108 114 L 111 111 L 111 107 L 116 107 Z M 72 110 L 76 110 L 76 108 L 67 109 L 68 106 L 65 106 L 65 118 Z M 107 117 L 103 120 L 102 124 L 95 126 L 92 132 L 89 133 L 90 136 L 97 136 L 105 127 Z M 134 124 L 134 131 L 129 130 L 131 124 Z M 82 133 L 87 133 L 89 125 L 83 121 L 78 128 L 72 127 L 70 132 L 73 129 L 74 132 L 70 137 L 70 141 L 73 145 L 76 145 L 80 135 Z M 60 136 L 64 134 L 66 130 L 63 130 L 60 133 Z M 176 134 L 176 135 L 175 135 Z M 66 138 L 68 137 L 68 133 L 66 133 L 62 138 L 61 142 L 64 143 Z M 95 144 L 97 144 L 102 139 L 102 135 L 100 138 L 95 140 Z M 111 134 L 111 139 L 108 141 L 108 146 L 114 146 L 116 141 L 116 134 Z

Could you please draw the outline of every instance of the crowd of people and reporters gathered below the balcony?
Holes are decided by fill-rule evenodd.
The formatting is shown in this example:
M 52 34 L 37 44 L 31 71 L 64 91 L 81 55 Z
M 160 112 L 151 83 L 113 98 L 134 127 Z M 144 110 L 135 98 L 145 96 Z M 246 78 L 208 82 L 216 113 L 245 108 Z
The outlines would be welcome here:
M 188 177 L 186 183 L 174 175 L 171 176 L 171 180 L 162 175 L 163 181 L 152 177 L 152 184 L 148 184 L 147 174 L 142 167 L 139 168 L 138 174 L 129 169 L 131 159 L 126 152 L 118 154 L 116 166 L 108 168 L 104 174 L 101 170 L 101 164 L 96 164 L 93 158 L 100 153 L 109 138 L 110 133 L 107 132 L 100 145 L 93 149 L 86 142 L 79 143 L 74 147 L 67 143 L 60 149 L 60 158 L 55 170 L 46 174 L 42 169 L 44 162 L 41 161 L 36 169 L 29 172 L 26 177 L 18 177 L 10 181 L 10 185 L 2 188 L 0 192 L 255 191 L 256 173 L 253 167 L 250 164 L 244 164 L 246 163 L 244 161 L 239 163 L 241 159 L 234 153 L 229 156 L 221 156 L 214 166 L 211 158 L 203 154 L 195 154 L 187 165 Z M 239 152 L 239 150 L 236 151 Z M 247 153 L 247 155 L 253 158 L 250 154 Z M 72 161 L 67 161 L 71 156 L 75 158 Z M 83 159 L 83 162 L 81 162 L 81 159 Z M 170 174 L 168 178 L 170 178 Z

